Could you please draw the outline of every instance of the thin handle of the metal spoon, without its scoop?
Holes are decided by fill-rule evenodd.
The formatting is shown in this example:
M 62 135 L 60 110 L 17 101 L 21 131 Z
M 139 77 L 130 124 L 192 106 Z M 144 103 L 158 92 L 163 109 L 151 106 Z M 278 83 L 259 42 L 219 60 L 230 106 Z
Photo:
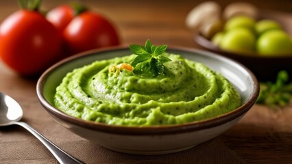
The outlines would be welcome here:
M 83 163 L 79 159 L 75 159 L 70 154 L 64 152 L 64 150 L 62 150 L 61 148 L 56 146 L 54 143 L 49 141 L 49 139 L 47 139 L 46 137 L 44 137 L 43 135 L 38 133 L 38 131 L 36 131 L 34 128 L 32 128 L 32 126 L 29 126 L 29 124 L 27 124 L 25 122 L 15 122 L 15 124 L 23 126 L 23 128 L 26 128 L 27 131 L 29 131 L 36 138 L 38 138 L 38 140 L 40 140 L 49 149 L 51 154 L 53 154 L 53 156 L 56 157 L 56 159 L 58 160 L 59 163 L 61 163 L 61 164 L 63 164 L 63 163 L 64 164 L 65 163 Z

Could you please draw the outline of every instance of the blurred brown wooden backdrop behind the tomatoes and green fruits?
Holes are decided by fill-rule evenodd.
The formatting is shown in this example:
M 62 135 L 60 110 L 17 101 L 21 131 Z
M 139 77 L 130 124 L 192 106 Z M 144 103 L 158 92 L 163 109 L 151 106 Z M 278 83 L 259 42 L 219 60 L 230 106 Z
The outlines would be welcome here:
M 56 5 L 71 2 L 66 0 L 43 0 L 40 9 L 45 12 L 56 7 Z M 87 4 L 90 9 L 100 12 L 109 18 L 116 25 L 122 44 L 143 44 L 149 38 L 155 44 L 196 46 L 193 41 L 193 33 L 187 29 L 184 22 L 188 12 L 204 1 L 84 0 L 82 2 Z M 224 7 L 234 1 L 217 0 L 217 2 Z M 248 0 L 246 2 L 253 3 L 261 10 L 292 12 L 291 0 Z M 19 10 L 19 5 L 16 0 L 1 0 L 0 10 L 0 21 L 2 21 L 12 12 Z

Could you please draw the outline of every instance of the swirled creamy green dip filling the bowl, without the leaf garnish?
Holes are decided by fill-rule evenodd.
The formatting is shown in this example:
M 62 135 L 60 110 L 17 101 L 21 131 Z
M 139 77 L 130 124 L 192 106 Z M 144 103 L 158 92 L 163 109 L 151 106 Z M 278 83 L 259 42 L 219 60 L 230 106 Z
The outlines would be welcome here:
M 165 74 L 152 78 L 108 71 L 136 55 L 76 68 L 57 87 L 54 105 L 82 120 L 127 126 L 195 122 L 241 105 L 239 92 L 221 74 L 180 55 L 164 55 L 171 59 Z

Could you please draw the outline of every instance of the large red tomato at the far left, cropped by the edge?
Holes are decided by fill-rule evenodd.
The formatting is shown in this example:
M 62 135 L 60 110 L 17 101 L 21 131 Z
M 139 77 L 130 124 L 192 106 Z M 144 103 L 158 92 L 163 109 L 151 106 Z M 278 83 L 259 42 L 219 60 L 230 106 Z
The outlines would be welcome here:
M 59 59 L 61 36 L 38 12 L 19 10 L 0 25 L 0 55 L 24 76 L 36 76 Z

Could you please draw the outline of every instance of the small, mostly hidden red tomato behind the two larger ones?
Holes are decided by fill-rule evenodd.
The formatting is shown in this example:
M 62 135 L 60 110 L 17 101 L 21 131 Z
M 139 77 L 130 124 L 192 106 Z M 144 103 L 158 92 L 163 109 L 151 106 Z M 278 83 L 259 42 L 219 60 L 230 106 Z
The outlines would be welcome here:
M 70 5 L 59 5 L 47 12 L 46 18 L 62 32 L 74 16 L 74 10 Z

